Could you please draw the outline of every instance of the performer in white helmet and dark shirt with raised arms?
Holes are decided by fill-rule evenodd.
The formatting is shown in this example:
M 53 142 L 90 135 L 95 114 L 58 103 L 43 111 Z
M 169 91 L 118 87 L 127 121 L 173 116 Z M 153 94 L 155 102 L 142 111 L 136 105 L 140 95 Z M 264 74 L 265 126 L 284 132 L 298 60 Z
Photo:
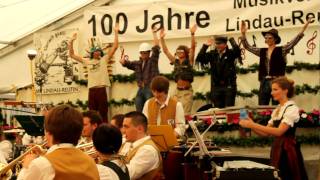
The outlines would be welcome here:
M 142 112 L 144 103 L 152 97 L 150 90 L 151 80 L 159 75 L 158 60 L 160 54 L 159 39 L 155 29 L 152 29 L 153 46 L 149 43 L 141 43 L 139 46 L 139 60 L 130 61 L 122 52 L 120 63 L 122 66 L 133 70 L 139 89 L 135 98 L 136 110 Z

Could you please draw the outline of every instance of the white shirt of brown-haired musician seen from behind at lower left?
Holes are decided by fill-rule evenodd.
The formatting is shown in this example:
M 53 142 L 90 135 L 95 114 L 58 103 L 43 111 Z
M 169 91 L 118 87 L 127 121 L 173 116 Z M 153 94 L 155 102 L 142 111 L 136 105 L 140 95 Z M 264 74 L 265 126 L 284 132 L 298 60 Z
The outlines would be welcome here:
M 55 144 L 49 148 L 47 154 L 59 148 L 73 148 L 72 144 Z M 45 157 L 38 157 L 31 161 L 28 168 L 22 168 L 18 180 L 53 180 L 55 170 L 49 160 Z

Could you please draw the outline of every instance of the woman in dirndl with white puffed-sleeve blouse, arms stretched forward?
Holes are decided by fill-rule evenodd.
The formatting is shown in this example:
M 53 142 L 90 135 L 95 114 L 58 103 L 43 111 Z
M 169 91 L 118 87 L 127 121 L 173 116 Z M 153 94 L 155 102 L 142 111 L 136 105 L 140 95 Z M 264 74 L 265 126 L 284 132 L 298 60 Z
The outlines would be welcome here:
M 300 119 L 299 107 L 289 100 L 294 95 L 294 82 L 286 77 L 274 79 L 271 94 L 279 105 L 272 112 L 267 126 L 257 124 L 250 118 L 241 120 L 239 124 L 259 135 L 275 136 L 271 149 L 271 164 L 280 170 L 281 179 L 308 179 L 300 146 L 295 139 Z

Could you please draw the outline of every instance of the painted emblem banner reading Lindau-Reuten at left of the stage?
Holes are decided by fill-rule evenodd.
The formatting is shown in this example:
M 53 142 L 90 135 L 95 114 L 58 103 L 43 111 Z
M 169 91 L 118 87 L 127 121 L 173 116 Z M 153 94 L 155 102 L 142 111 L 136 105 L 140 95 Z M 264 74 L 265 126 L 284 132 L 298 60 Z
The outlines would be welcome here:
M 42 94 L 74 93 L 80 87 L 79 64 L 69 57 L 68 42 L 77 30 L 62 30 L 37 33 L 34 46 L 38 52 L 35 58 L 35 87 Z

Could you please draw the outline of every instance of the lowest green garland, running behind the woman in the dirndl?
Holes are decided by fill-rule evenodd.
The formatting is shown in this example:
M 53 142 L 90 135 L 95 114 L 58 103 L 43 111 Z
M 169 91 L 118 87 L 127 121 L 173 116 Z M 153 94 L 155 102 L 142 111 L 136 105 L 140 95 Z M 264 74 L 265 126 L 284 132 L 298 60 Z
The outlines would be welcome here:
M 312 134 L 308 136 L 297 136 L 297 141 L 300 144 L 320 145 L 320 134 Z M 273 137 L 247 137 L 247 138 L 234 138 L 234 137 L 212 137 L 213 142 L 217 146 L 238 146 L 238 147 L 253 147 L 253 146 L 271 146 Z

